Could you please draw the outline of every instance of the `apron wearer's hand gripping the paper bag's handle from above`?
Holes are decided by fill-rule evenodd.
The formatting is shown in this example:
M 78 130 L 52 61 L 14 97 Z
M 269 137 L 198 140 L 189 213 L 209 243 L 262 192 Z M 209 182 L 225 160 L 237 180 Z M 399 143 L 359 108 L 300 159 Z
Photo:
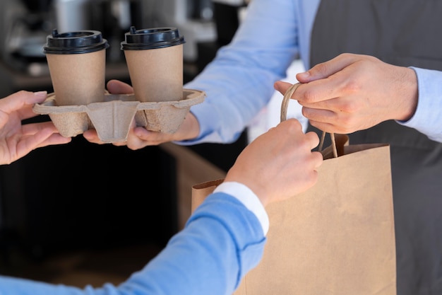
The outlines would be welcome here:
M 417 77 L 412 69 L 362 54 L 340 54 L 297 74 L 302 83 L 292 96 L 302 114 L 325 132 L 350 134 L 386 120 L 409 120 L 417 108 Z M 291 84 L 278 81 L 284 94 Z

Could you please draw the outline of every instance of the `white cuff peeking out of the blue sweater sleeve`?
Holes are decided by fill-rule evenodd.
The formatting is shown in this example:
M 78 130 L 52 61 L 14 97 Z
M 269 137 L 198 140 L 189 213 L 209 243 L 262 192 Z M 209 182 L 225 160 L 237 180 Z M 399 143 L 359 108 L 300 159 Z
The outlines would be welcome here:
M 269 226 L 268 214 L 265 212 L 263 203 L 261 203 L 260 199 L 258 199 L 255 193 L 249 189 L 249 187 L 243 185 L 242 183 L 229 181 L 218 185 L 214 192 L 224 192 L 227 195 L 237 198 L 239 202 L 243 203 L 247 209 L 255 214 L 256 218 L 258 218 L 259 222 L 261 223 L 264 236 L 267 235 Z

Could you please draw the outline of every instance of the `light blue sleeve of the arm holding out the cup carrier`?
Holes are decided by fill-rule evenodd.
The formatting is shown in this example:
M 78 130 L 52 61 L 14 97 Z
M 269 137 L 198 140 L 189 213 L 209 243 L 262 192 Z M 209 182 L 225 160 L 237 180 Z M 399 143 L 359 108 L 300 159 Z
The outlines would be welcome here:
M 200 142 L 236 140 L 273 95 L 273 83 L 285 77 L 299 54 L 294 2 L 253 0 L 231 44 L 217 52 L 196 79 L 184 87 L 205 91 L 191 107 L 200 125 Z

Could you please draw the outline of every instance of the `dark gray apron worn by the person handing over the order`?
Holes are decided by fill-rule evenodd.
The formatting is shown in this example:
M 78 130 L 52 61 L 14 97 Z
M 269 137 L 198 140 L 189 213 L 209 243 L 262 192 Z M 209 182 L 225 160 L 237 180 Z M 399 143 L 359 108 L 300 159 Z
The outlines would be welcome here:
M 343 52 L 442 71 L 442 1 L 321 1 L 311 65 Z M 442 144 L 394 121 L 350 134 L 352 144 L 378 142 L 391 151 L 398 295 L 441 295 Z

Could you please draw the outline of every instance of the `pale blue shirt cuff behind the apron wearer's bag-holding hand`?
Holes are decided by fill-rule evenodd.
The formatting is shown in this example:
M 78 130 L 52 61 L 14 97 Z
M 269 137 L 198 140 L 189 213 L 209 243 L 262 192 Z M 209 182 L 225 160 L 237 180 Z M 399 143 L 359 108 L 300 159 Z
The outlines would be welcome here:
M 431 140 L 442 142 L 442 71 L 412 69 L 417 74 L 419 89 L 417 110 L 410 120 L 398 123 L 417 129 Z

